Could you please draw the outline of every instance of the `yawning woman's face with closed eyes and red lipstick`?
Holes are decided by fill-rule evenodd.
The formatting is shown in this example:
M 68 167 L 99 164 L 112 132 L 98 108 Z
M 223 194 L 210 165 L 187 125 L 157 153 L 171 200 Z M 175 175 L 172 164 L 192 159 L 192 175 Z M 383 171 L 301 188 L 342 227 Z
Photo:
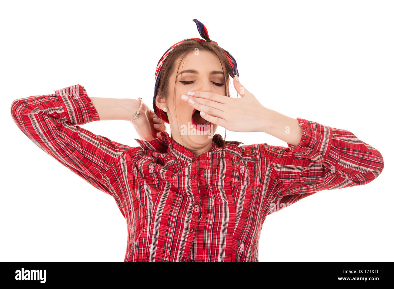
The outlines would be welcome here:
M 167 107 L 173 140 L 192 151 L 199 151 L 204 148 L 209 149 L 217 125 L 212 123 L 206 125 L 206 120 L 198 111 L 192 115 L 193 106 L 188 100 L 181 99 L 181 96 L 187 96 L 190 90 L 225 95 L 225 77 L 219 58 L 214 53 L 203 50 L 198 51 L 197 55 L 195 53 L 190 52 L 184 58 L 178 74 L 180 59 L 177 60 L 174 72 L 169 77 L 167 101 L 156 98 L 156 104 L 160 109 Z

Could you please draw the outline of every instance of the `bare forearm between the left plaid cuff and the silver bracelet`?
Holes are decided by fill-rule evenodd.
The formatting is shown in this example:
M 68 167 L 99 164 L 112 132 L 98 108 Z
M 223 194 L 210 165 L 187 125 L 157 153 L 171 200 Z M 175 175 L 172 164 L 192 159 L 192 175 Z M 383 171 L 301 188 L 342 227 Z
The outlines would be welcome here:
M 90 98 L 100 120 L 131 121 L 141 102 L 131 98 Z

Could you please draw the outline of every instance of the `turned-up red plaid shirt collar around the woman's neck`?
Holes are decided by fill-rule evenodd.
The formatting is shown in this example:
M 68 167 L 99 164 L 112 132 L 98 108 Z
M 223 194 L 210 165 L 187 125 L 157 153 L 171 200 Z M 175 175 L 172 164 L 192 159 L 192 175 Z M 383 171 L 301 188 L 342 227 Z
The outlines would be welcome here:
M 139 140 L 134 138 L 136 142 L 142 147 L 143 150 L 156 151 L 158 153 L 168 153 L 176 158 L 182 158 L 184 160 L 192 160 L 195 155 L 183 145 L 178 144 L 173 140 L 169 134 L 165 131 L 160 132 L 160 137 L 154 138 L 153 140 Z M 224 141 L 220 134 L 215 134 L 212 137 L 212 147 L 208 150 L 210 153 L 218 152 L 222 149 L 224 144 L 235 144 L 240 145 L 243 142 L 237 141 Z

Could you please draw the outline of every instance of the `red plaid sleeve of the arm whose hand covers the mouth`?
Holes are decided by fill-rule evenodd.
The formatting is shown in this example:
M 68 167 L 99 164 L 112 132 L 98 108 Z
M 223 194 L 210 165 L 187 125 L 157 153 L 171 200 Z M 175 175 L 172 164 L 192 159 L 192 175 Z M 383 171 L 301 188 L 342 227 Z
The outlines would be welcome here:
M 297 145 L 261 145 L 279 180 L 272 203 L 281 205 L 273 208 L 281 210 L 318 191 L 368 184 L 383 171 L 381 153 L 350 131 L 297 120 L 303 132 Z

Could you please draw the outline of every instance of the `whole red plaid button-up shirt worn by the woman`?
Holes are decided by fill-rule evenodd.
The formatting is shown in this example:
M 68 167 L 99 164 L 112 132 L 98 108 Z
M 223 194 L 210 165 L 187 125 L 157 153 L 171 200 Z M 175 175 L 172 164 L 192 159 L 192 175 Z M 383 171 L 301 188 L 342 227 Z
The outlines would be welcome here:
M 130 147 L 81 128 L 100 118 L 80 85 L 17 99 L 11 114 L 36 145 L 112 195 L 127 222 L 125 262 L 258 261 L 267 215 L 318 191 L 367 184 L 384 167 L 351 132 L 297 118 L 297 146 L 226 142 L 213 172 L 219 134 L 197 157 L 166 132 Z

